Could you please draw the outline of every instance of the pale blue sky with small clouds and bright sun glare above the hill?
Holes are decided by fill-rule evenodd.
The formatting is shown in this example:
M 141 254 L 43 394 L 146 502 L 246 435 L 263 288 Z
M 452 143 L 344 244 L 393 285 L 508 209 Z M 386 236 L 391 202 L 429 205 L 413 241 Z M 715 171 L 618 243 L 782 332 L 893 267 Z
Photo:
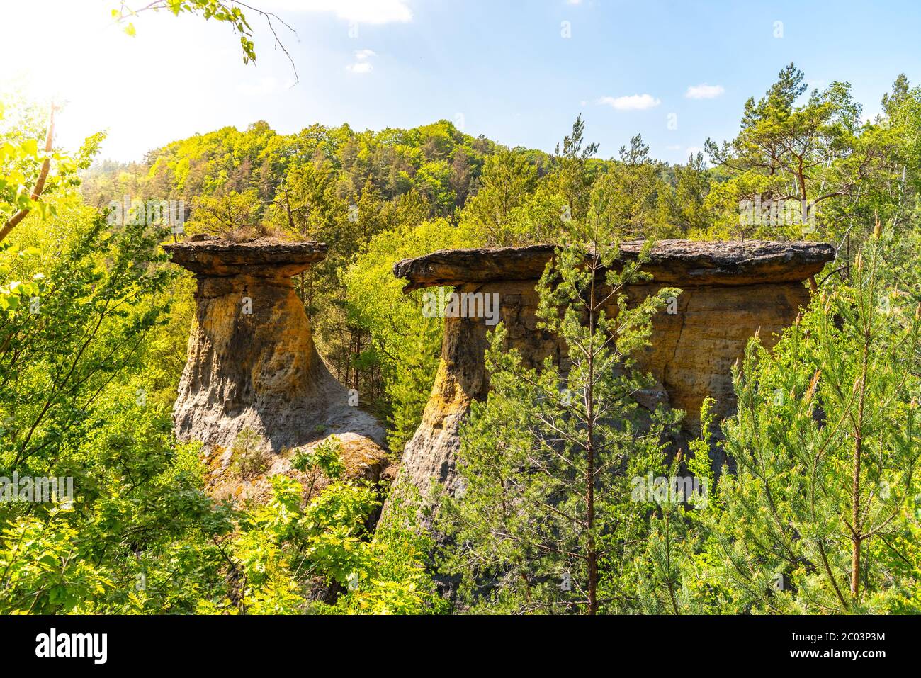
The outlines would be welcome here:
M 35 96 L 63 90 L 62 143 L 108 128 L 102 155 L 118 159 L 256 120 L 290 133 L 314 122 L 381 129 L 444 118 L 549 151 L 581 112 L 601 157 L 639 132 L 654 157 L 682 161 L 708 136 L 732 136 L 745 99 L 790 61 L 813 85 L 851 82 L 870 116 L 900 72 L 921 81 L 921 5 L 903 0 L 252 4 L 297 30 L 280 31 L 296 86 L 259 20 L 257 64 L 247 66 L 236 38 L 213 22 L 146 14 L 126 36 L 107 20 L 115 0 L 6 3 L 0 24 L 22 30 L 0 60 Z M 59 19 L 52 51 L 23 60 L 35 49 L 28 27 L 49 26 L 49 16 Z

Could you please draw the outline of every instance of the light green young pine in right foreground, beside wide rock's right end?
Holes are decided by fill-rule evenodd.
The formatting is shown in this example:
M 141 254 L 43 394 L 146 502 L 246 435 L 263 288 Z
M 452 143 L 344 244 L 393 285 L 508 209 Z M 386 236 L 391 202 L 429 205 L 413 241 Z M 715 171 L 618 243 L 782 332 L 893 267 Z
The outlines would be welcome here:
M 735 370 L 723 430 L 738 469 L 701 520 L 724 612 L 885 612 L 912 596 L 916 611 L 921 306 L 886 284 L 880 231 L 852 282 L 814 298 L 773 353 L 752 340 Z

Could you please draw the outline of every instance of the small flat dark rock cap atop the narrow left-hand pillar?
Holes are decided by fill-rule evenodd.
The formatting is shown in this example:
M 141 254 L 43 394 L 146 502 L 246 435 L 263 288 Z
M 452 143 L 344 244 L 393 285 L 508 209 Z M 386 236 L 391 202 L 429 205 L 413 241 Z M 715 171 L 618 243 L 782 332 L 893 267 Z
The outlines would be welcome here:
M 189 240 L 165 244 L 163 250 L 172 263 L 198 275 L 289 277 L 325 259 L 329 245 L 313 240 L 289 242 L 276 238 L 237 242 L 196 235 Z

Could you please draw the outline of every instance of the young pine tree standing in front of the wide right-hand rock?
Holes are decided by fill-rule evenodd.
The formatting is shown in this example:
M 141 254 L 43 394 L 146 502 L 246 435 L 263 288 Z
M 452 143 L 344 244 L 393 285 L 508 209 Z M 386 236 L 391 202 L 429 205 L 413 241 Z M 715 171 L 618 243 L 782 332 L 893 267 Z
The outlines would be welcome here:
M 491 337 L 491 392 L 461 431 L 458 497 L 443 523 L 454 544 L 446 571 L 459 575 L 472 610 L 615 612 L 635 606 L 627 554 L 647 530 L 648 508 L 631 479 L 664 468 L 664 435 L 677 413 L 635 403 L 649 380 L 633 370 L 651 318 L 679 290 L 663 288 L 631 308 L 624 287 L 646 279 L 647 248 L 621 261 L 596 201 L 538 286 L 539 328 L 565 345 L 564 365 L 526 367 Z

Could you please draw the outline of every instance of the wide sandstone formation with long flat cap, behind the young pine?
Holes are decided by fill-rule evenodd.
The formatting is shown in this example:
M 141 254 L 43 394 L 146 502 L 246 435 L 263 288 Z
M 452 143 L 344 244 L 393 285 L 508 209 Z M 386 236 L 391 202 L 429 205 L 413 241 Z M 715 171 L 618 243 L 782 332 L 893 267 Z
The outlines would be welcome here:
M 624 243 L 633 258 L 642 243 Z M 564 349 L 554 336 L 538 330 L 536 281 L 554 247 L 537 245 L 499 250 L 436 251 L 393 267 L 407 280 L 406 291 L 454 286 L 458 292 L 497 293 L 507 344 L 532 367 L 551 356 L 558 364 Z M 663 240 L 645 270 L 652 279 L 628 287 L 636 301 L 662 286 L 682 288 L 677 312 L 655 318 L 651 343 L 639 367 L 658 381 L 650 400 L 663 400 L 686 413 L 684 429 L 699 428 L 706 396 L 717 401 L 716 415 L 730 415 L 734 396 L 730 368 L 746 342 L 759 330 L 766 345 L 795 320 L 809 301 L 803 281 L 834 259 L 830 245 L 808 242 L 697 242 Z M 490 328 L 483 318 L 446 318 L 441 361 L 423 421 L 403 450 L 398 482 L 416 485 L 425 495 L 433 481 L 456 481 L 454 462 L 460 447 L 458 428 L 473 399 L 484 399 L 488 375 L 484 351 Z

